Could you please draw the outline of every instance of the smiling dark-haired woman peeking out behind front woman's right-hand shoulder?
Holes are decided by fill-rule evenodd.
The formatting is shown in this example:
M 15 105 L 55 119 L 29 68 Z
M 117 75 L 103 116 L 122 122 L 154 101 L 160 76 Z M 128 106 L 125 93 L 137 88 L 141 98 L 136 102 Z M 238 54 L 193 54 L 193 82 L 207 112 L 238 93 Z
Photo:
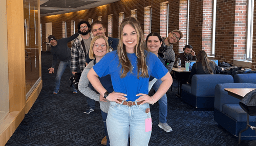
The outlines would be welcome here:
M 162 38 L 158 33 L 150 33 L 146 37 L 147 50 L 154 53 L 161 60 L 163 65 L 165 65 L 163 58 L 161 58 L 158 55 L 159 48 L 160 47 L 163 48 L 162 42 L 163 42 Z M 155 91 L 157 91 L 159 86 L 161 85 L 161 83 L 162 83 L 162 81 L 160 79 L 158 79 L 154 83 L 153 89 Z M 158 101 L 158 104 L 159 104 L 159 124 L 158 124 L 158 126 L 166 132 L 172 132 L 173 129 L 171 127 L 169 127 L 169 125 L 166 123 L 166 121 L 167 121 L 167 119 L 166 119 L 166 117 L 167 117 L 167 96 L 166 96 L 166 94 L 164 94 L 162 96 L 162 98 Z

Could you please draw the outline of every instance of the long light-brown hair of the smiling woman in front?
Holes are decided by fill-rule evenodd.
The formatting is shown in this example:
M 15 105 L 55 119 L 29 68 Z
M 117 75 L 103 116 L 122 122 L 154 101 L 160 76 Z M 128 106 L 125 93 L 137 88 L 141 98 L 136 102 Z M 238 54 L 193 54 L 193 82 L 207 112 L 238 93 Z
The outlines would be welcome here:
M 117 54 L 119 58 L 119 63 L 121 64 L 121 78 L 126 77 L 127 73 L 129 71 L 132 72 L 132 64 L 129 58 L 127 57 L 126 50 L 125 50 L 125 45 L 123 44 L 123 28 L 126 25 L 130 25 L 133 27 L 137 33 L 137 44 L 134 47 L 134 52 L 137 56 L 137 68 L 138 68 L 138 78 L 139 77 L 146 77 L 148 78 L 148 72 L 147 72 L 147 66 L 146 66 L 146 56 L 144 54 L 144 48 L 143 48 L 143 41 L 144 41 L 144 34 L 143 31 L 141 30 L 140 23 L 137 19 L 134 17 L 127 17 L 123 19 L 121 25 L 120 25 L 120 40 L 119 44 L 117 46 Z M 141 71 L 141 75 L 140 74 Z

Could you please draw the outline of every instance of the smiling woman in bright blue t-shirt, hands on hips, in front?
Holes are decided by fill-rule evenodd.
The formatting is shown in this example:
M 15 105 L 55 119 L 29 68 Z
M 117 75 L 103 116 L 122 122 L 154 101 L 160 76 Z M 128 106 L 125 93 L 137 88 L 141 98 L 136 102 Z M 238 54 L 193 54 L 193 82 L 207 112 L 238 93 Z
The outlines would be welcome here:
M 148 145 L 152 121 L 150 105 L 172 84 L 172 77 L 153 53 L 143 49 L 143 31 L 134 17 L 120 25 L 117 51 L 106 54 L 88 73 L 93 87 L 110 102 L 106 126 L 111 145 Z M 98 77 L 111 75 L 114 92 L 109 93 Z M 162 80 L 158 91 L 148 96 L 149 77 Z

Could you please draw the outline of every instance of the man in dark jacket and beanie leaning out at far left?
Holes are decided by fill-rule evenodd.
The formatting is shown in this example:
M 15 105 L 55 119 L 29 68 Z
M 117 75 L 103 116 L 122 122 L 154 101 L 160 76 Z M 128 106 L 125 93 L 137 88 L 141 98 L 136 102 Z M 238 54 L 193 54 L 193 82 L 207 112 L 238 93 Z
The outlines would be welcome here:
M 63 72 L 65 71 L 66 67 L 68 66 L 70 69 L 70 73 L 72 75 L 72 70 L 70 68 L 70 59 L 71 59 L 71 51 L 70 48 L 68 47 L 68 42 L 72 41 L 75 39 L 79 34 L 75 33 L 71 37 L 68 38 L 61 38 L 56 40 L 55 36 L 50 35 L 48 37 L 49 42 L 51 43 L 51 54 L 52 54 L 52 67 L 50 67 L 48 70 L 50 74 L 54 73 L 54 67 L 57 64 L 57 60 L 59 59 L 59 66 L 57 70 L 57 75 L 55 78 L 55 88 L 53 90 L 53 94 L 57 94 L 59 92 L 59 85 L 60 85 L 60 79 L 61 76 L 63 75 Z M 75 87 L 73 88 L 73 93 L 77 93 L 77 90 Z

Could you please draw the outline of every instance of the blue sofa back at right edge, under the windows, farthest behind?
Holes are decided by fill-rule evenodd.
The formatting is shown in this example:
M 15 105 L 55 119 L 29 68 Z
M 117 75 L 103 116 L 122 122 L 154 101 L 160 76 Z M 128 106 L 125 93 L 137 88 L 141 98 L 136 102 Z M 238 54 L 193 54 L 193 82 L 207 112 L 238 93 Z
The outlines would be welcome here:
M 237 74 L 237 75 L 234 75 L 234 83 L 253 83 L 253 84 L 256 84 L 256 74 Z

